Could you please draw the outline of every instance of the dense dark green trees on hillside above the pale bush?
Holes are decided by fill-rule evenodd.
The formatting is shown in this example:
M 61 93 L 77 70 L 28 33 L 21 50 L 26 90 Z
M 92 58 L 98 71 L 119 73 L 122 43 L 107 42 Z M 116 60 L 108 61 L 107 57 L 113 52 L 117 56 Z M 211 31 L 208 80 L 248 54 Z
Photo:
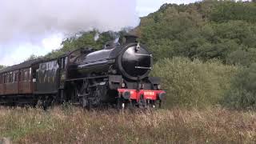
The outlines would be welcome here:
M 239 51 L 256 50 L 256 5 L 253 2 L 204 1 L 189 5 L 165 4 L 142 18 L 137 31 L 154 60 L 182 56 L 204 61 L 248 65 L 254 54 L 235 59 Z

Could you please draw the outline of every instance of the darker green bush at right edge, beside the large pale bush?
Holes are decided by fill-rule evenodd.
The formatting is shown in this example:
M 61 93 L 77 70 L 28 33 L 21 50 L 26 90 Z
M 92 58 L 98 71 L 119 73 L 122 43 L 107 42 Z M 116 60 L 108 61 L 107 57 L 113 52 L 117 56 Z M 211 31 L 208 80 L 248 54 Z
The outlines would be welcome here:
M 236 110 L 256 110 L 256 64 L 241 70 L 232 80 L 224 106 Z

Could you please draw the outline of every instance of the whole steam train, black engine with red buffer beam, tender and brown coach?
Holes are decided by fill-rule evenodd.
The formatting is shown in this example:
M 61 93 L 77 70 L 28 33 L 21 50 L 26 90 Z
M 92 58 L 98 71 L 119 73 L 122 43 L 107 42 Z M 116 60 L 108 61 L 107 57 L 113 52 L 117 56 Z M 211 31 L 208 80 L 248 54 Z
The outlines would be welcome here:
M 103 50 L 82 48 L 56 59 L 36 59 L 0 70 L 0 102 L 33 104 L 71 102 L 98 106 L 161 106 L 165 91 L 160 79 L 149 77 L 152 54 L 126 36 Z

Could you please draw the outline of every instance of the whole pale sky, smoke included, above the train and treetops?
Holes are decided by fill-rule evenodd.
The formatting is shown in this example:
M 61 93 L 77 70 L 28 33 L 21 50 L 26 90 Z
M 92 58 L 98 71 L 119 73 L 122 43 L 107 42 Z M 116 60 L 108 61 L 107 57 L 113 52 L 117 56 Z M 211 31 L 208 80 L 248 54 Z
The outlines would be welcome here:
M 20 0 L 19 2 L 22 3 L 17 6 L 13 6 L 14 2 L 11 3 L 11 1 L 18 2 L 0 0 L 0 21 L 3 23 L 0 23 L 0 65 L 5 66 L 23 62 L 31 54 L 44 55 L 51 50 L 59 49 L 60 43 L 68 33 L 91 30 L 92 28 L 104 31 L 119 30 L 122 26 L 136 26 L 139 23 L 139 17 L 153 13 L 164 3 L 187 4 L 198 0 L 110 0 L 112 3 L 110 1 L 97 3 L 97 0 L 94 0 L 96 2 L 87 2 L 88 5 L 82 3 L 82 0 L 73 0 L 74 6 L 69 5 L 69 0 L 55 0 L 57 2 L 50 3 L 50 6 L 46 3 L 50 0 L 43 0 L 38 7 L 38 3 L 35 1 L 39 0 Z M 64 4 L 60 5 L 58 1 Z M 70 11 L 62 14 L 61 8 L 56 10 L 54 5 L 63 9 L 67 6 Z M 111 10 L 108 5 L 120 8 Z M 82 11 L 91 7 L 92 10 Z M 42 9 L 42 11 L 38 9 Z M 49 14 L 47 15 L 47 13 Z M 56 22 L 54 14 L 56 17 L 58 16 Z M 126 16 L 126 21 L 122 19 L 122 21 L 111 22 L 109 20 L 109 18 L 123 18 L 123 15 Z M 78 19 L 85 20 L 79 21 Z M 62 25 L 55 25 L 55 23 L 62 23 Z

